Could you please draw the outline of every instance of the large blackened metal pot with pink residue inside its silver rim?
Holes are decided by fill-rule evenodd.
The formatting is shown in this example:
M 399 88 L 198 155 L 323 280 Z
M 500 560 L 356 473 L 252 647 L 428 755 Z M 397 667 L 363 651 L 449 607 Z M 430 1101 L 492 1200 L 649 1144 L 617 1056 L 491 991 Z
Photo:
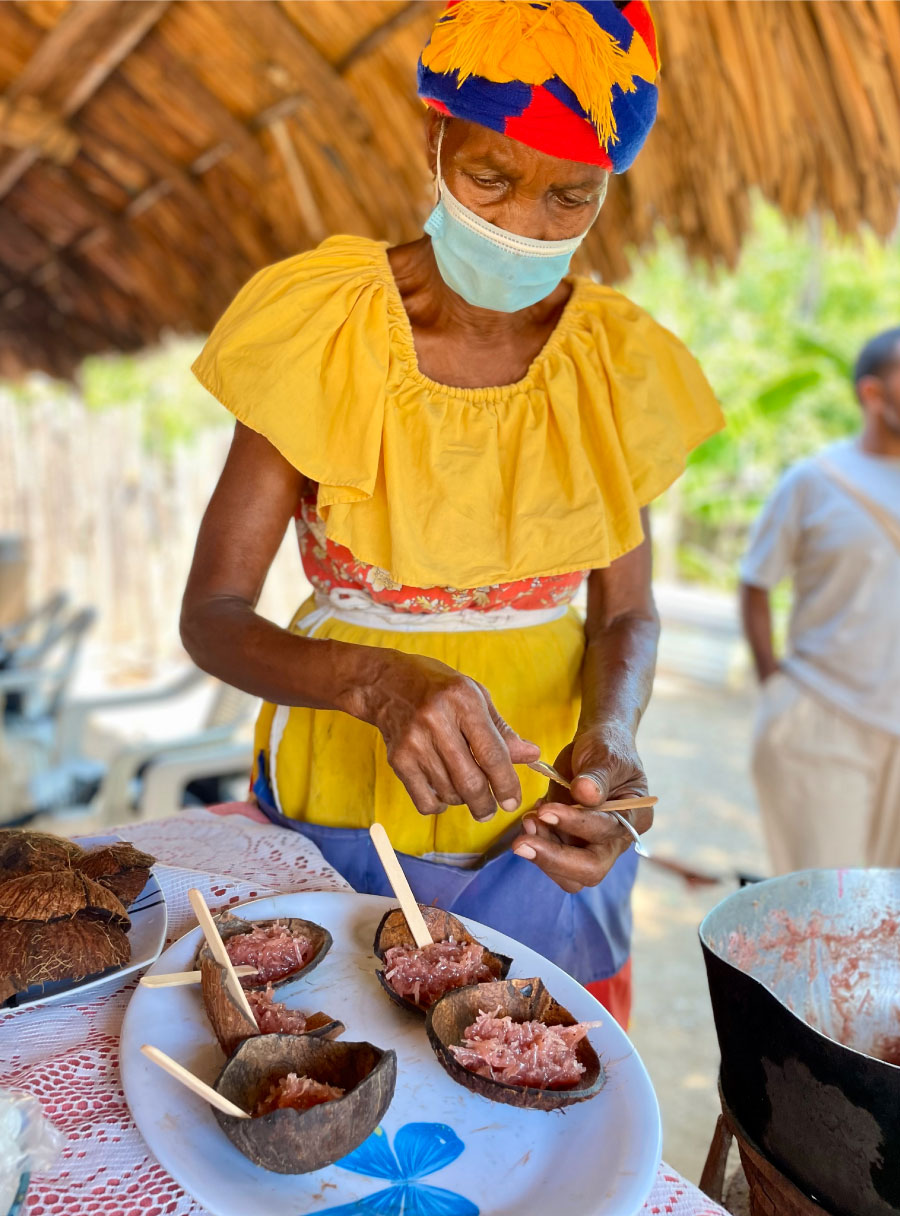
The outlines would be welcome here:
M 772 878 L 699 933 L 748 1136 L 833 1216 L 900 1216 L 900 871 Z

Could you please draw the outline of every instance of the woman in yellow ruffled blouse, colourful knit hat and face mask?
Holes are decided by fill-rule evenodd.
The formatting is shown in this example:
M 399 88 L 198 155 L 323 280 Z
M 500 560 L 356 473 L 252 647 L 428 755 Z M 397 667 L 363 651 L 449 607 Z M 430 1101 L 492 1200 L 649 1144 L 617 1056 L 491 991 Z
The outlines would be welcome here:
M 420 900 L 623 1020 L 636 858 L 600 809 L 646 793 L 646 506 L 721 417 L 673 334 L 568 266 L 657 67 L 643 0 L 448 6 L 418 66 L 426 235 L 260 271 L 195 365 L 237 426 L 182 610 L 196 662 L 265 702 L 271 818 L 386 894 L 382 822 Z M 315 593 L 281 629 L 254 606 L 291 518 Z M 522 767 L 539 749 L 570 794 Z

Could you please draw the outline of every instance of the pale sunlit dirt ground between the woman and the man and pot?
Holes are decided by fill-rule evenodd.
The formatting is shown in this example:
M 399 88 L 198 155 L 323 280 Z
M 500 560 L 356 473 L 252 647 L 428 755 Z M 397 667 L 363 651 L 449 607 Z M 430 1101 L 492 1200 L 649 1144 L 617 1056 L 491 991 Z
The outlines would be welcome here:
M 766 873 L 748 755 L 753 697 L 657 679 L 639 744 L 659 795 L 648 844 L 726 876 Z M 699 1180 L 719 1110 L 719 1048 L 697 927 L 737 886 L 688 888 L 647 862 L 635 891 L 631 1037 L 659 1096 L 665 1159 Z

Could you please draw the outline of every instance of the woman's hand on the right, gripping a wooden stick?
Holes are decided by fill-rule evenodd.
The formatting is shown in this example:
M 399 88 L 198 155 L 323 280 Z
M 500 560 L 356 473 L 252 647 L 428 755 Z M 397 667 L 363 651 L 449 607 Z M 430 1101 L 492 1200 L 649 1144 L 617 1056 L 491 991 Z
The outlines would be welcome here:
M 555 767 L 564 776 L 574 775 L 572 789 L 551 782 L 547 798 L 523 818 L 523 834 L 512 850 L 533 861 L 564 891 L 574 893 L 602 882 L 631 844 L 623 826 L 603 814 L 602 804 L 645 796 L 647 778 L 631 733 L 609 727 L 579 732 L 559 753 Z M 653 822 L 651 809 L 621 814 L 639 832 Z

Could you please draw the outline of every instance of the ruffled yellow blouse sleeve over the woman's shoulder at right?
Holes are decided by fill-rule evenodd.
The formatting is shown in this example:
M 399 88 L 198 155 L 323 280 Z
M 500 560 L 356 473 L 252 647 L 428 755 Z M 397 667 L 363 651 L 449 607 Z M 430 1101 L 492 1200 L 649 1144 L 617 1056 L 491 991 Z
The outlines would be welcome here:
M 684 472 L 688 455 L 725 426 L 690 350 L 620 292 L 591 285 L 585 310 L 609 389 L 621 458 L 639 507 Z

